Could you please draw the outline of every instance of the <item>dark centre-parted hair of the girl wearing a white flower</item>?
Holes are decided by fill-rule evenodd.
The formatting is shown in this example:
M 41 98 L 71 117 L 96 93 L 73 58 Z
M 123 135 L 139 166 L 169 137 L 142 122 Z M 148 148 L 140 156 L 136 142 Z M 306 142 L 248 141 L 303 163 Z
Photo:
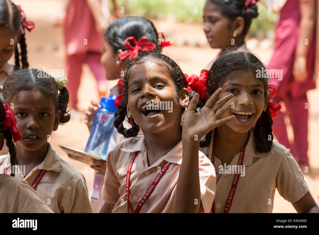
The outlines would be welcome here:
M 12 97 L 22 90 L 39 90 L 45 96 L 53 99 L 56 104 L 56 110 L 61 110 L 59 124 L 70 121 L 69 91 L 64 86 L 58 90 L 58 84 L 54 77 L 40 69 L 20 69 L 13 72 L 2 87 L 3 100 L 10 105 Z

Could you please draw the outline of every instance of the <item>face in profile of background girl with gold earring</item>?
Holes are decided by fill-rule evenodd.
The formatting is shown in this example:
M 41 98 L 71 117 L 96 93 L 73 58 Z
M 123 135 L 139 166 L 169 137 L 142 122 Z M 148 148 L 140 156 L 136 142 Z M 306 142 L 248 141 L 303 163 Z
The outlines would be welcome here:
M 223 48 L 231 43 L 235 28 L 229 28 L 229 20 L 221 14 L 219 6 L 207 1 L 203 19 L 204 32 L 211 48 Z

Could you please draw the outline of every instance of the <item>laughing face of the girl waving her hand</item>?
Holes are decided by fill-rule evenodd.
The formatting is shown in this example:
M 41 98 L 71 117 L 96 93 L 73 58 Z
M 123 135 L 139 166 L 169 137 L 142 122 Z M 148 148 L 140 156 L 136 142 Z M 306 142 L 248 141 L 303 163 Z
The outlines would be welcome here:
M 182 101 L 188 103 L 188 90 L 176 92 L 170 75 L 157 61 L 146 60 L 135 65 L 128 81 L 128 112 L 143 132 L 159 133 L 165 129 L 180 126 Z M 162 110 L 148 110 L 148 101 Z

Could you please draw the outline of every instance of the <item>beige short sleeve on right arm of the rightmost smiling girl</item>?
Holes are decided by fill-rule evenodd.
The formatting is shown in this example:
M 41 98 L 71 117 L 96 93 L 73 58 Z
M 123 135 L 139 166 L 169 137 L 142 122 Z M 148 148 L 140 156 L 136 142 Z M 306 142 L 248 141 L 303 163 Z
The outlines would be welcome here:
M 308 191 L 308 185 L 298 163 L 286 149 L 276 176 L 276 186 L 279 194 L 293 203 L 302 198 Z

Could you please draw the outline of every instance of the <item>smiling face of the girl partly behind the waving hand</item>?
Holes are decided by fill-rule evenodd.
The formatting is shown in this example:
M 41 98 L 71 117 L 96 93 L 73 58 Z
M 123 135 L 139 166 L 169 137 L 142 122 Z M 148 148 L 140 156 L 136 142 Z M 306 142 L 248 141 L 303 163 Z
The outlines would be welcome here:
M 235 104 L 234 108 L 232 107 L 229 113 L 224 113 L 221 118 L 235 115 L 234 120 L 224 125 L 235 132 L 246 133 L 256 124 L 264 107 L 266 107 L 263 82 L 250 71 L 235 72 L 234 79 L 227 80 L 222 86 L 223 92 L 220 98 L 233 94 L 234 98 L 229 100 L 227 104 L 233 101 L 235 101 Z

